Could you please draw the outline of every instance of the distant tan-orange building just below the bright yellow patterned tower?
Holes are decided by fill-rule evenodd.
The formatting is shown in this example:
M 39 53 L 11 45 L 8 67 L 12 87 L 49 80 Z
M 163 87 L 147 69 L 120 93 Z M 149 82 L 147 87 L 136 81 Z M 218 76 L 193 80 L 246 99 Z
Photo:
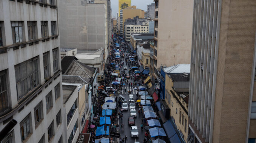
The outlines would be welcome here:
M 136 6 L 131 6 L 126 9 L 120 10 L 120 33 L 124 34 L 124 22 L 128 18 L 134 18 L 139 16 L 139 18 L 144 18 L 145 11 L 141 9 L 136 9 Z

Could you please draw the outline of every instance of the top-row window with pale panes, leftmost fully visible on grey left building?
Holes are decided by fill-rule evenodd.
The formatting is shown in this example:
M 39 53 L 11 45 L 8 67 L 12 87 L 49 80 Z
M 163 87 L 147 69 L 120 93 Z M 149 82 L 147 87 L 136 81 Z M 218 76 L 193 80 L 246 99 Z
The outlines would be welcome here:
M 13 44 L 23 42 L 22 24 L 22 21 L 11 21 Z

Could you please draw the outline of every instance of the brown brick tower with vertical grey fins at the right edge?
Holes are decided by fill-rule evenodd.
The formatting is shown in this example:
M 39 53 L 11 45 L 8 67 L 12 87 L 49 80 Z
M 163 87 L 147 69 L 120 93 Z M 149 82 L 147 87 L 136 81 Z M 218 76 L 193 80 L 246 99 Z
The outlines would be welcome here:
M 256 1 L 195 0 L 189 140 L 255 143 Z

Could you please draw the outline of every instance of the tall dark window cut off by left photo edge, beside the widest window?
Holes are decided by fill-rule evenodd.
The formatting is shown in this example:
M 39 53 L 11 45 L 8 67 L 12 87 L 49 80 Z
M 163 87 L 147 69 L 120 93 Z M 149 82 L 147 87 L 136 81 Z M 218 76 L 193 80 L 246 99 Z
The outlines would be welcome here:
M 8 90 L 6 71 L 0 71 L 0 113 L 8 109 Z

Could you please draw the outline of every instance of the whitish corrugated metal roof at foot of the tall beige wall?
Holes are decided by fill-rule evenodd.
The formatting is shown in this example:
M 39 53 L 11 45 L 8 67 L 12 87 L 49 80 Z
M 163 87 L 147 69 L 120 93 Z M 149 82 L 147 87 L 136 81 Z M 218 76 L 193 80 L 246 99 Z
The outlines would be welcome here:
M 190 73 L 190 64 L 178 64 L 175 66 L 170 66 L 163 68 L 163 71 L 167 74 L 176 74 L 176 73 Z

